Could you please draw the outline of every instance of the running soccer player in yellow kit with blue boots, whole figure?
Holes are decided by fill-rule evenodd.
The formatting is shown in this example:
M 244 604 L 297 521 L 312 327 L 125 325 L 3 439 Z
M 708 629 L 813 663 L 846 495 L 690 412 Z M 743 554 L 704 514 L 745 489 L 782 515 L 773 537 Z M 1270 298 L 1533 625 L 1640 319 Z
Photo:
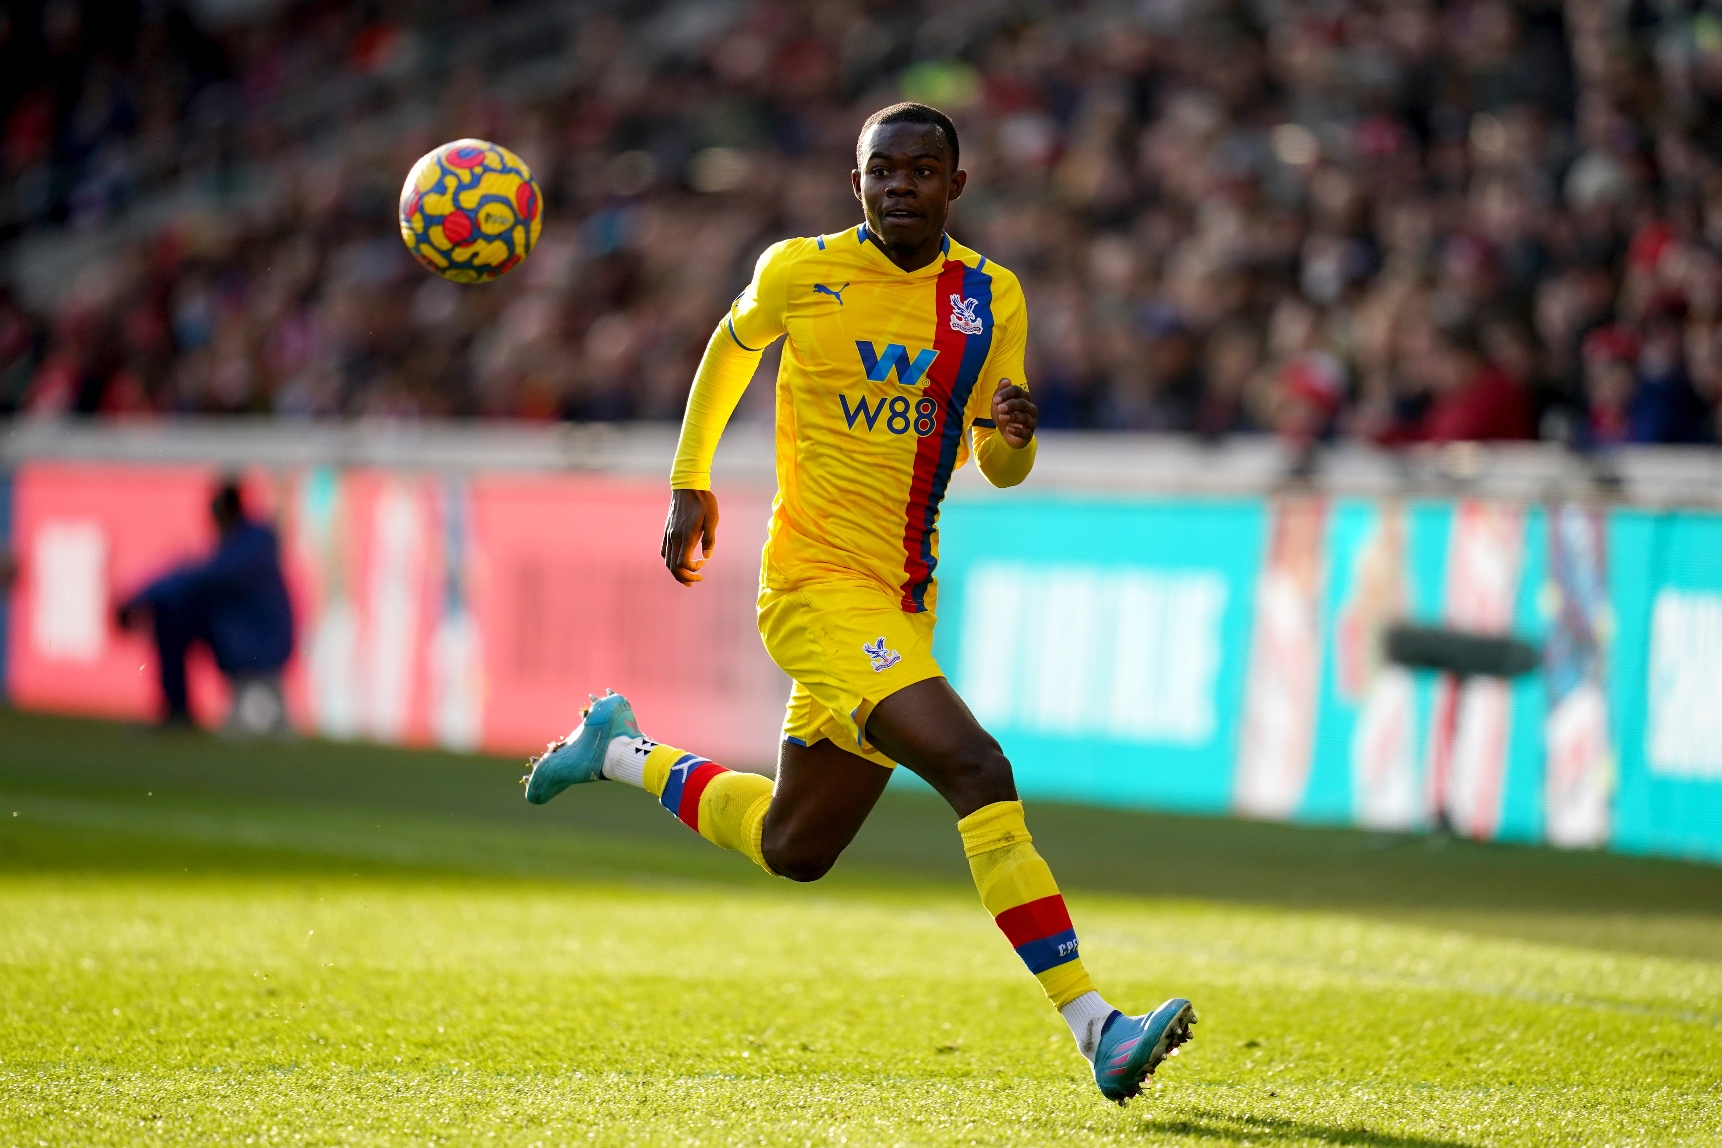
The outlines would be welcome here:
M 718 435 L 766 344 L 787 336 L 778 496 L 759 578 L 759 633 L 794 680 L 775 785 L 653 742 L 627 699 L 610 694 L 534 762 L 527 800 L 577 781 L 625 781 L 768 873 L 816 881 L 890 769 L 907 766 L 951 802 L 982 904 L 1069 1022 L 1100 1091 L 1124 1103 L 1190 1038 L 1190 1002 L 1124 1015 L 1093 990 L 1064 898 L 1028 836 L 1011 762 L 932 654 L 951 472 L 973 454 L 988 482 L 1009 487 L 1035 461 L 1023 289 L 945 234 L 968 174 L 942 112 L 875 112 L 849 181 L 864 222 L 768 248 L 713 332 L 687 399 L 663 534 L 670 573 L 699 582 L 716 540 Z

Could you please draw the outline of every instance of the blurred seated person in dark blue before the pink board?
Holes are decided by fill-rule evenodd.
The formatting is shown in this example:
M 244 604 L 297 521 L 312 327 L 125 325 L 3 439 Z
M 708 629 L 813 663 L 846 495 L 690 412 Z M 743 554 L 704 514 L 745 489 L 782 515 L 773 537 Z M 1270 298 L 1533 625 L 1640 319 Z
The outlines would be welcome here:
M 293 606 L 276 532 L 245 516 L 236 482 L 210 503 L 215 552 L 157 578 L 117 611 L 122 630 L 150 623 L 160 661 L 164 725 L 189 725 L 186 651 L 203 642 L 236 685 L 272 676 L 293 654 Z

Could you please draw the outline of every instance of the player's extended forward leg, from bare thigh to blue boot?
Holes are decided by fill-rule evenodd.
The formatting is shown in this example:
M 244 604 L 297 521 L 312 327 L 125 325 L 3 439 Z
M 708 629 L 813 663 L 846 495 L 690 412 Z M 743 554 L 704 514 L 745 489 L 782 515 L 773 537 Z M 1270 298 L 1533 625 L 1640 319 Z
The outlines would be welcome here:
M 951 802 L 987 912 L 1071 1026 L 1100 1093 L 1118 1103 L 1135 1096 L 1143 1077 L 1190 1040 L 1195 1012 L 1188 1000 L 1174 997 L 1147 1015 L 1130 1017 L 1095 991 L 1064 897 L 1028 835 L 1004 750 L 944 678 L 916 682 L 880 701 L 866 737 Z

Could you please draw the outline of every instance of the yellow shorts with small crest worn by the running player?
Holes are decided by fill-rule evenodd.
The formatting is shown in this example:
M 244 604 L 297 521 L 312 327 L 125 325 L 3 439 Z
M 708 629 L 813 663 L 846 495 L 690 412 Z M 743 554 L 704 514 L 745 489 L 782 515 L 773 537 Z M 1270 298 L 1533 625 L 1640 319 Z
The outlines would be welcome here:
M 944 676 L 933 661 L 933 613 L 904 613 L 897 597 L 866 582 L 759 590 L 759 637 L 796 682 L 784 740 L 830 738 L 887 769 L 897 762 L 866 740 L 873 706 L 906 685 Z

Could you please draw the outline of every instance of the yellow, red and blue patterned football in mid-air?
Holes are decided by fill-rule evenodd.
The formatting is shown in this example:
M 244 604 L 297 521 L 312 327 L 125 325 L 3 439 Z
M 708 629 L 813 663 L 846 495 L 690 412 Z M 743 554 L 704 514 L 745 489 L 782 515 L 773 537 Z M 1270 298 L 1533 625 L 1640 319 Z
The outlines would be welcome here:
M 413 164 L 401 188 L 401 239 L 455 282 L 487 282 L 532 251 L 544 200 L 532 169 L 484 139 L 444 143 Z

